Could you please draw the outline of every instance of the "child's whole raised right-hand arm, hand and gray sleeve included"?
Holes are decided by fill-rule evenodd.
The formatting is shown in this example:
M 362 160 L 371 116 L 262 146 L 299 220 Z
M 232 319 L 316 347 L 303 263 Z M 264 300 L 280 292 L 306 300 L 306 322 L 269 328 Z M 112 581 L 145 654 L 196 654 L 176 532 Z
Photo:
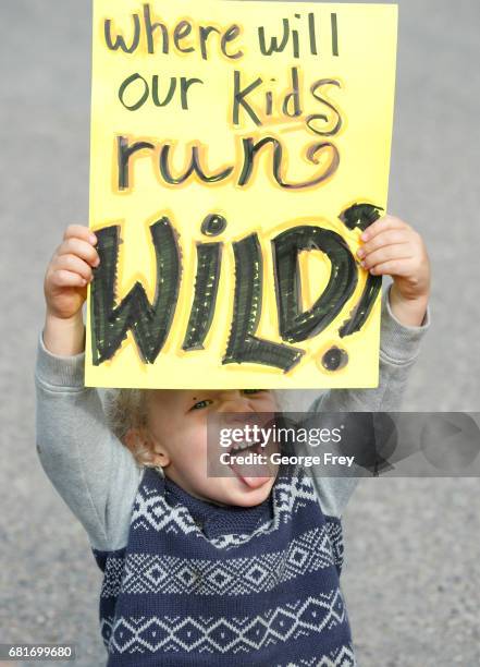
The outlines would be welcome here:
M 365 244 L 358 256 L 365 268 L 372 275 L 392 275 L 394 280 L 382 294 L 379 386 L 330 390 L 310 411 L 398 411 L 420 341 L 430 328 L 430 262 L 421 237 L 402 220 L 386 216 L 361 239 Z M 347 474 L 313 478 L 325 513 L 342 514 L 358 481 Z

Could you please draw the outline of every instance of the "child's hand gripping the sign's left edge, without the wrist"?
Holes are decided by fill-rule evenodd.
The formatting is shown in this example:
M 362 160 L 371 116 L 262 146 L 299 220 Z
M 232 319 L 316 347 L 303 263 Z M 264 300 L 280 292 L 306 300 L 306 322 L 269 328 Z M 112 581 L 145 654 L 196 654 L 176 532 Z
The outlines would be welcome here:
M 59 319 L 77 315 L 87 298 L 93 267 L 100 263 L 96 235 L 82 225 L 70 225 L 63 243 L 56 250 L 45 275 L 47 314 Z

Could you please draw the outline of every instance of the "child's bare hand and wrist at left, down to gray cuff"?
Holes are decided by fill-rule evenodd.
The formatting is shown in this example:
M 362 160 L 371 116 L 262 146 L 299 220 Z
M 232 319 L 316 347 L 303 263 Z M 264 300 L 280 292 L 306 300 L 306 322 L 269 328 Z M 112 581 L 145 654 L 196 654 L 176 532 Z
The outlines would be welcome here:
M 47 267 L 44 342 L 54 354 L 76 354 L 84 348 L 82 306 L 94 277 L 91 269 L 100 263 L 95 243 L 97 238 L 88 227 L 71 225 Z

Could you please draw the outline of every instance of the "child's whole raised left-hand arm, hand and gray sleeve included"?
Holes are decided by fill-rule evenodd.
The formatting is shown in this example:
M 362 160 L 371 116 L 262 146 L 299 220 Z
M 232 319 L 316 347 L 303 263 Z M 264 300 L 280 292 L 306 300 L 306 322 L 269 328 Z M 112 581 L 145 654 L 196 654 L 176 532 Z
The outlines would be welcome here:
M 113 550 L 126 543 L 140 471 L 108 428 L 98 391 L 84 386 L 82 306 L 98 265 L 95 242 L 88 228 L 69 227 L 46 272 L 35 372 L 37 451 L 91 545 Z

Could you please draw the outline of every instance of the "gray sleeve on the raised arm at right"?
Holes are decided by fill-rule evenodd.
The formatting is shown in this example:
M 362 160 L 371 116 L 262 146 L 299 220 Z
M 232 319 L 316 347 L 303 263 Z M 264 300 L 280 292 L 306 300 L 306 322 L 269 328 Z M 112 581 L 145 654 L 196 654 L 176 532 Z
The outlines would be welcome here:
M 310 412 L 399 411 L 410 368 L 420 341 L 430 328 L 430 306 L 419 327 L 399 323 L 390 307 L 390 289 L 382 294 L 379 386 L 376 389 L 331 389 L 313 401 Z M 341 517 L 359 481 L 348 472 L 342 477 L 312 476 L 325 514 Z

